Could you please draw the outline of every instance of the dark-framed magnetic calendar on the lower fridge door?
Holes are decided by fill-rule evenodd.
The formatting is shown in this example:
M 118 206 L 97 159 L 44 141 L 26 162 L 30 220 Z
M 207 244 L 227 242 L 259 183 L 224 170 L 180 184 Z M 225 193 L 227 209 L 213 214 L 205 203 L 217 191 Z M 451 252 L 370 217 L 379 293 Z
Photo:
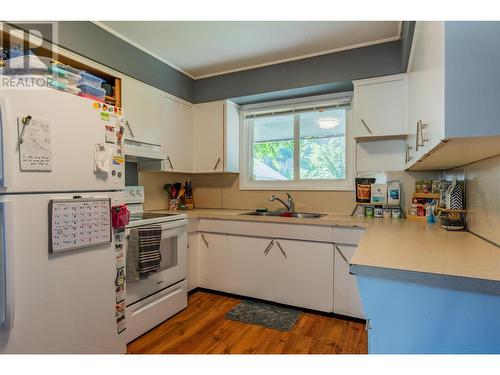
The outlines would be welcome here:
M 49 202 L 49 252 L 111 242 L 109 198 L 52 199 Z

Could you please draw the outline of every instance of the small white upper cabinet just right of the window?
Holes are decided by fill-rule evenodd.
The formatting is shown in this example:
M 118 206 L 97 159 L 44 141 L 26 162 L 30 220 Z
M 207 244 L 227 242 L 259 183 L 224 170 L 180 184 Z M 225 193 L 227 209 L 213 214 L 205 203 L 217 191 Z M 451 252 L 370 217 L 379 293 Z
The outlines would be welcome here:
M 355 137 L 406 134 L 405 74 L 354 81 Z

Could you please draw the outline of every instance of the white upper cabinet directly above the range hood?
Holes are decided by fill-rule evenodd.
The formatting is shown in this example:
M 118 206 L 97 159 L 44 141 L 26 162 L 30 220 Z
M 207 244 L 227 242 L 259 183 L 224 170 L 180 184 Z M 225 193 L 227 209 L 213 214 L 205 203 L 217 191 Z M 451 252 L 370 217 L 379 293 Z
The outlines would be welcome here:
M 129 77 L 122 78 L 125 139 L 161 145 L 161 99 L 155 88 Z

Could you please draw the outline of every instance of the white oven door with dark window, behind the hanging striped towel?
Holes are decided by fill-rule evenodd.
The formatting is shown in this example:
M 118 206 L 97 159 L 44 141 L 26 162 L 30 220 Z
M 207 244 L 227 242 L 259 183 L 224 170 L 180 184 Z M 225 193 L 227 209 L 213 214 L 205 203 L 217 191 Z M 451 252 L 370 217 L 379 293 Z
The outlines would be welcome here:
M 187 220 L 159 223 L 162 228 L 160 243 L 161 265 L 158 272 L 147 276 L 132 275 L 127 265 L 127 306 L 143 300 L 187 277 Z M 133 229 L 133 228 L 131 228 Z M 130 230 L 127 229 L 127 237 Z M 127 252 L 138 252 L 127 246 Z M 130 257 L 127 256 L 127 261 Z

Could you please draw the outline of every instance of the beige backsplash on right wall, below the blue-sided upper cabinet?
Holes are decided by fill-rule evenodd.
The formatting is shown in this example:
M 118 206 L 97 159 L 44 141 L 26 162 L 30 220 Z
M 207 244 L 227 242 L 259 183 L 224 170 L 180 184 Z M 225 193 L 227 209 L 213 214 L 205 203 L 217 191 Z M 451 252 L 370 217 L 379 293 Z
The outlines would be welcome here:
M 465 174 L 468 229 L 500 246 L 500 231 L 498 231 L 500 228 L 500 156 L 470 164 L 462 170 Z

